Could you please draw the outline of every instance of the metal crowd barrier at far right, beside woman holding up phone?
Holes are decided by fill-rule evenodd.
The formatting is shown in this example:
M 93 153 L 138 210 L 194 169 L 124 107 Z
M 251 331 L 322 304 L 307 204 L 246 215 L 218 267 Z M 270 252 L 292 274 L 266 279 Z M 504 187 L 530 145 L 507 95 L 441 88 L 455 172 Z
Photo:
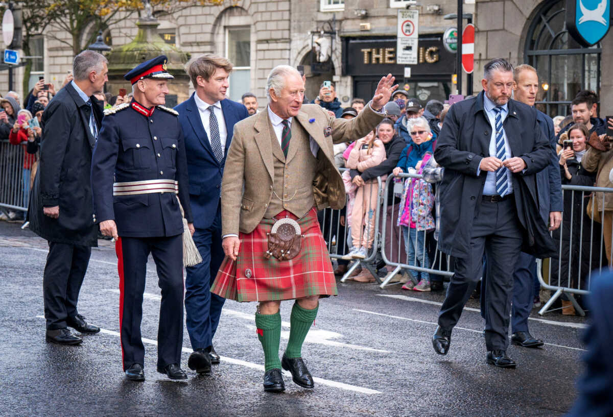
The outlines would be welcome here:
M 558 310 L 550 310 L 550 307 L 555 300 L 565 295 L 573 304 L 576 312 L 583 316 L 585 312 L 579 306 L 575 296 L 587 295 L 590 292 L 592 275 L 596 271 L 601 272 L 603 266 L 611 266 L 607 257 L 609 260 L 613 259 L 613 245 L 610 246 L 611 249 L 608 250 L 608 254 L 605 245 L 605 233 L 611 232 L 607 233 L 610 239 L 610 236 L 613 235 L 613 225 L 608 225 L 607 230 L 605 230 L 604 221 L 603 224 L 600 224 L 590 219 L 587 214 L 587 205 L 590 195 L 596 193 L 590 211 L 593 218 L 595 214 L 598 214 L 596 212 L 596 200 L 601 203 L 601 207 L 604 207 L 605 196 L 607 193 L 613 192 L 613 188 L 564 185 L 562 186 L 562 192 L 564 200 L 568 202 L 568 198 L 570 198 L 573 204 L 569 212 L 563 213 L 560 228 L 552 232 L 558 247 L 558 254 L 549 258 L 549 265 L 546 268 L 548 282 L 544 279 L 544 261 L 537 260 L 536 270 L 541 287 L 555 291 L 538 314 L 543 315 L 546 312 Z M 611 230 L 608 230 L 609 227 L 611 227 Z

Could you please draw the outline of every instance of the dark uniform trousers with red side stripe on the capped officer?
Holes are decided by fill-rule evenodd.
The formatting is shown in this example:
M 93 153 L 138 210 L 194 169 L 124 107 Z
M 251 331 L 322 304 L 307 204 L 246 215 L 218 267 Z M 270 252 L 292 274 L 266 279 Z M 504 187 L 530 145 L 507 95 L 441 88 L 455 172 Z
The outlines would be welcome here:
M 181 363 L 183 347 L 183 237 L 120 238 L 115 244 L 120 276 L 120 329 L 123 369 L 145 365 L 141 340 L 143 293 L 149 254 L 162 290 L 158 327 L 158 367 Z M 151 338 L 151 336 L 148 335 Z

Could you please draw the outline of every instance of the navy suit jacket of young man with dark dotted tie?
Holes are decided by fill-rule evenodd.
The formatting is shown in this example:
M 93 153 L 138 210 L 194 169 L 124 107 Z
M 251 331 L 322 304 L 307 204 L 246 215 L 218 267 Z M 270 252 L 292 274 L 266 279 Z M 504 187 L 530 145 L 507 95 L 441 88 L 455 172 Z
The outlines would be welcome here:
M 185 138 L 188 158 L 189 201 L 192 216 L 194 216 L 194 226 L 205 229 L 213 224 L 219 208 L 221 178 L 224 175 L 224 165 L 234 133 L 234 124 L 248 117 L 249 113 L 241 103 L 229 99 L 221 100 L 221 111 L 223 111 L 226 121 L 227 138 L 224 159 L 219 163 L 215 154 L 213 154 L 207 132 L 202 126 L 202 119 L 200 119 L 200 112 L 196 107 L 194 94 L 175 107 L 175 110 L 179 113 L 179 123 Z

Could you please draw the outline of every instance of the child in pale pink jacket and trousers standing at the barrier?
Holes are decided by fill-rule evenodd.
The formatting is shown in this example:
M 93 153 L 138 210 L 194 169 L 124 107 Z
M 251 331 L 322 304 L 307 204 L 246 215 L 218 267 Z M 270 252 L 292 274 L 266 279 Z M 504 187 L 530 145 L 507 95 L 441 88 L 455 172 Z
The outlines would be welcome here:
M 375 167 L 386 159 L 383 142 L 375 138 L 375 132 L 370 132 L 364 138 L 358 139 L 349 152 L 346 167 L 364 171 Z M 364 259 L 368 249 L 375 240 L 375 210 L 378 198 L 378 183 L 376 179 L 358 186 L 353 208 L 351 210 L 351 239 L 353 246 L 346 259 Z M 348 211 L 349 213 L 349 211 Z M 364 225 L 364 227 L 362 227 Z

